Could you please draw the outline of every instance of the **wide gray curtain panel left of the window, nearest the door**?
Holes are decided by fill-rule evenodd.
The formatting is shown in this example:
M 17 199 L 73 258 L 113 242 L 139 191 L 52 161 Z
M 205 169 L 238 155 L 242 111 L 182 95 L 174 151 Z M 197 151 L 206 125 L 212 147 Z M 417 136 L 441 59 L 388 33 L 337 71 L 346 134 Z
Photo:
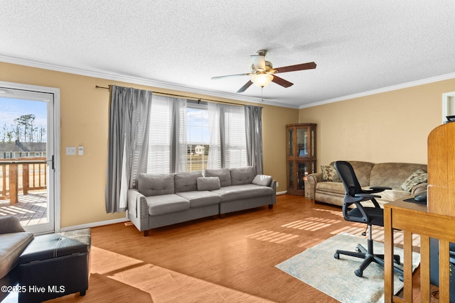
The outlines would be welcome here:
M 110 87 L 106 212 L 127 209 L 127 190 L 146 172 L 152 92 Z

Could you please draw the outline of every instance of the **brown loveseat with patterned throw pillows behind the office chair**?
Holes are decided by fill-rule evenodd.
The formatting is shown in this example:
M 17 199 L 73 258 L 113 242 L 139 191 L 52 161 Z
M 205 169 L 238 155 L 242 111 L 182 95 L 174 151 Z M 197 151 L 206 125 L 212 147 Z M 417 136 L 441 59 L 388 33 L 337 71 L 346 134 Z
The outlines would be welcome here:
M 414 163 L 371 163 L 348 161 L 353 165 L 360 186 L 391 187 L 380 192 L 377 199 L 382 206 L 401 198 L 410 198 L 427 189 L 427 165 Z M 322 172 L 308 175 L 309 199 L 334 205 L 343 205 L 344 187 L 336 174 L 333 162 L 322 165 Z

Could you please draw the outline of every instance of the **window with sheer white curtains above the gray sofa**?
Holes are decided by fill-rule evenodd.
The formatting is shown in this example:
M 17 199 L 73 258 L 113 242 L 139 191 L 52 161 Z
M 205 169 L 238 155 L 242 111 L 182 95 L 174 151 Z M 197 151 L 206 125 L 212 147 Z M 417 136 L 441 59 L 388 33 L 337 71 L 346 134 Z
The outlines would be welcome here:
M 247 165 L 242 106 L 154 95 L 149 127 L 149 173 Z

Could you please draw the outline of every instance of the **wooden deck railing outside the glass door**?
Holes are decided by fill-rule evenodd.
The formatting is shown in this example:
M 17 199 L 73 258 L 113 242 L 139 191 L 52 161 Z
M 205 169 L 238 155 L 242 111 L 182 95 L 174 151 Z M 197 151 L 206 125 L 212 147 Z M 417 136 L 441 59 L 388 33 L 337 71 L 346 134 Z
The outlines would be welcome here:
M 18 193 L 46 189 L 46 158 L 0 159 L 0 200 L 18 201 Z

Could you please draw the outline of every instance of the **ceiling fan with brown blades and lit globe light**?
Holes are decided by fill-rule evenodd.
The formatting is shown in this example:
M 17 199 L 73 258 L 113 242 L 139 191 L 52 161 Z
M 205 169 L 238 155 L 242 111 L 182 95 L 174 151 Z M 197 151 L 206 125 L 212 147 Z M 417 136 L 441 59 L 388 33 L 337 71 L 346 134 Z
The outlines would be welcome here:
M 285 79 L 278 77 L 275 74 L 282 72 L 295 72 L 297 70 L 311 70 L 316 68 L 315 62 L 302 63 L 298 65 L 289 65 L 284 67 L 273 68 L 271 62 L 265 60 L 265 55 L 267 50 L 258 50 L 255 55 L 251 55 L 251 60 L 253 64 L 251 65 L 251 72 L 246 74 L 236 74 L 236 75 L 226 75 L 212 77 L 212 79 L 222 79 L 226 77 L 238 77 L 238 76 L 252 76 L 251 79 L 245 83 L 237 93 L 245 92 L 245 90 L 250 87 L 251 84 L 255 83 L 258 87 L 266 87 L 270 82 L 275 82 L 282 87 L 290 87 L 294 85 Z

